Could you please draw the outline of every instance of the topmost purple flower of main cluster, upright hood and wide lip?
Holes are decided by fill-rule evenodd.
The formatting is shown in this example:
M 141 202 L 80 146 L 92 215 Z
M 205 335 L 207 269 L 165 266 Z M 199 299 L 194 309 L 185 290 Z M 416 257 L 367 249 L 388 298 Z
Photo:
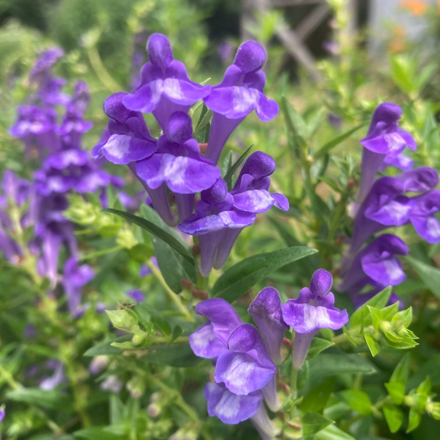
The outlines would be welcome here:
M 187 113 L 190 106 L 205 98 L 210 85 L 190 81 L 181 61 L 173 59 L 171 45 L 165 35 L 154 33 L 147 41 L 150 62 L 142 68 L 140 86 L 123 99 L 130 110 L 153 113 L 164 132 L 169 117 L 176 111 Z

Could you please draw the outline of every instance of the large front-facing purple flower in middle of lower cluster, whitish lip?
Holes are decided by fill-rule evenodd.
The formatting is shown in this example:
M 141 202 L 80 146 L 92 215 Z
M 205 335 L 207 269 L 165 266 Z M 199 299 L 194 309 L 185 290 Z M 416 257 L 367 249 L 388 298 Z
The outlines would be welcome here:
M 260 390 L 276 372 L 258 330 L 251 324 L 237 327 L 217 358 L 214 380 L 238 395 Z M 263 396 L 265 390 L 261 390 Z M 270 393 L 270 390 L 268 390 Z

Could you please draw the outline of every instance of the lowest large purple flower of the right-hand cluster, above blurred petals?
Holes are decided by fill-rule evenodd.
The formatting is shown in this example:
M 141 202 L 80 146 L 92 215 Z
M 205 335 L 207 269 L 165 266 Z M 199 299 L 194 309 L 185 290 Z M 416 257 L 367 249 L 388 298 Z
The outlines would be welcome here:
M 408 247 L 399 237 L 380 235 L 352 259 L 338 290 L 353 296 L 367 284 L 378 288 L 400 284 L 406 275 L 396 255 L 407 253 Z

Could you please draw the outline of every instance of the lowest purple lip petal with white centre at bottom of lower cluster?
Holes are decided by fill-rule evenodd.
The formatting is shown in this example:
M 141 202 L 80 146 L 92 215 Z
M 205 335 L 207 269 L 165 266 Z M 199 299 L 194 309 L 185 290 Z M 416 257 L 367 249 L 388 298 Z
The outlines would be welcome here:
M 260 392 L 247 396 L 237 396 L 223 384 L 209 382 L 205 385 L 205 398 L 208 401 L 208 414 L 218 417 L 223 423 L 235 425 L 252 417 L 263 398 Z

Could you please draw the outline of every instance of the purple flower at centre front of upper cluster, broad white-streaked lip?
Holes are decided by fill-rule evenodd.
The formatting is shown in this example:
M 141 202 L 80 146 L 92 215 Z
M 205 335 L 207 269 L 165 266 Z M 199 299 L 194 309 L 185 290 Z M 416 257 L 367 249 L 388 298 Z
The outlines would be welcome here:
M 182 112 L 171 115 L 166 135 L 158 140 L 158 151 L 136 162 L 136 173 L 151 189 L 167 184 L 175 193 L 180 220 L 193 213 L 194 194 L 208 189 L 220 177 L 220 169 L 200 154 L 192 137 L 191 118 Z M 168 198 L 163 203 L 168 203 Z

